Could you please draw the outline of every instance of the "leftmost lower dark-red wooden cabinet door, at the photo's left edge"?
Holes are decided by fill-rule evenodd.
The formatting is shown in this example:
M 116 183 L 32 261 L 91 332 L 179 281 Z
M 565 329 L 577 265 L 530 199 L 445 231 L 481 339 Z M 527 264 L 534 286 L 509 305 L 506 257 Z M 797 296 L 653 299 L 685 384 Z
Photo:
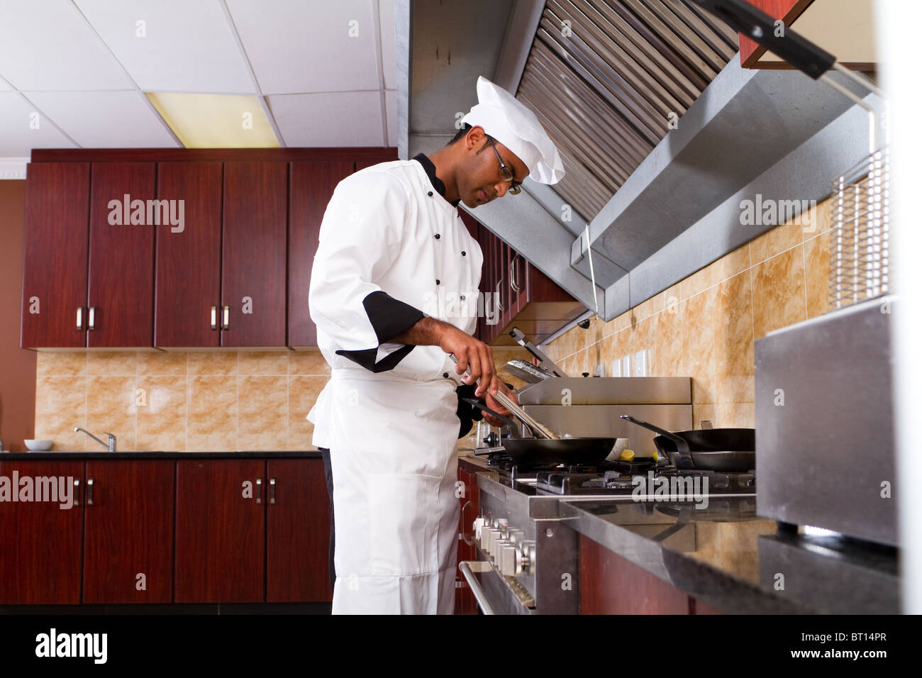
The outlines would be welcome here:
M 80 602 L 83 462 L 22 462 L 11 457 L 15 456 L 0 460 L 0 476 L 10 479 L 11 485 L 25 477 L 63 478 L 74 503 L 62 508 L 60 501 L 0 502 L 0 604 L 76 605 Z

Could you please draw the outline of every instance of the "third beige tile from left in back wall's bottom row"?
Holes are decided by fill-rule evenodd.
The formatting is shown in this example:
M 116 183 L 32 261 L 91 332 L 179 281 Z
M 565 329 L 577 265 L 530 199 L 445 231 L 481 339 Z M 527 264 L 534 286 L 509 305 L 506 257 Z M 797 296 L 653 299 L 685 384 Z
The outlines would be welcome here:
M 186 377 L 139 376 L 143 400 L 137 405 L 138 450 L 184 452 L 187 422 Z M 143 403 L 143 404 L 141 404 Z

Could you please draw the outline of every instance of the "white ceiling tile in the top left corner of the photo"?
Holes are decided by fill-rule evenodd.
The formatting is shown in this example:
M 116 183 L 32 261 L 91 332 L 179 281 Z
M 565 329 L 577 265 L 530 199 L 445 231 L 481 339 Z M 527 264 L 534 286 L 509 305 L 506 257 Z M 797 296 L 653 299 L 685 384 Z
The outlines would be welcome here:
M 16 89 L 134 89 L 69 0 L 0 0 L 0 17 L 0 76 Z

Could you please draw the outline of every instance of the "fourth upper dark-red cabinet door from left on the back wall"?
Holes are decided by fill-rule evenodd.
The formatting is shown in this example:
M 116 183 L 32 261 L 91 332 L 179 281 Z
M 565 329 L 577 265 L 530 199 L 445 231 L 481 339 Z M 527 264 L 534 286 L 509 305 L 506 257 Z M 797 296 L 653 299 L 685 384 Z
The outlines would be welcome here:
M 285 346 L 288 163 L 225 162 L 221 346 Z

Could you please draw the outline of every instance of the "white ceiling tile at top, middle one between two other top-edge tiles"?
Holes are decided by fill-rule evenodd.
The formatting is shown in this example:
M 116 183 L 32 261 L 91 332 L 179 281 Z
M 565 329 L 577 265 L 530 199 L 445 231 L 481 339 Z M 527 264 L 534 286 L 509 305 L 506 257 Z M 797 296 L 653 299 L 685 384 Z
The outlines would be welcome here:
M 215 0 L 76 2 L 140 89 L 255 92 L 231 26 Z M 144 23 L 138 26 L 139 21 Z

